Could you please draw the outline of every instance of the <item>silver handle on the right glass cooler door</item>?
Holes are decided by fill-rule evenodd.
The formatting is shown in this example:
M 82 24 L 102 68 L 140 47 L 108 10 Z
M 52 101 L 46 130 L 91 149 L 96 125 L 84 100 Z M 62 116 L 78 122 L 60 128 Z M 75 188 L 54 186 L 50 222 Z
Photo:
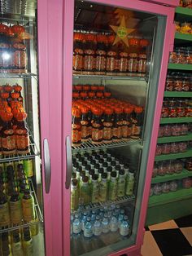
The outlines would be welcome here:
M 71 179 L 72 179 L 72 143 L 69 136 L 66 137 L 65 146 L 66 146 L 66 163 L 67 163 L 65 188 L 68 189 L 70 188 Z

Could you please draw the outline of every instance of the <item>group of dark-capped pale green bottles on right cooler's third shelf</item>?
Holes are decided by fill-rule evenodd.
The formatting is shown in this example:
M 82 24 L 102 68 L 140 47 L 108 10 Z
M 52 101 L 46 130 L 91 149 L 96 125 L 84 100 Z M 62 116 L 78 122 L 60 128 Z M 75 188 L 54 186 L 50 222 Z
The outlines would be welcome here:
M 73 155 L 71 209 L 133 195 L 134 173 L 110 152 Z

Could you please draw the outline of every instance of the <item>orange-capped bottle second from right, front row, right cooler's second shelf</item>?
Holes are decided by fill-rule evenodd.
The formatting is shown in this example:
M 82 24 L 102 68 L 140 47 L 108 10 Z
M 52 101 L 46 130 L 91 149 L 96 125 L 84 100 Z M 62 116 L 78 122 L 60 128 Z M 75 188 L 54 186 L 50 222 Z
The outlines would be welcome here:
M 133 113 L 132 107 L 124 108 L 123 125 L 122 125 L 122 138 L 129 139 L 132 133 L 131 114 Z

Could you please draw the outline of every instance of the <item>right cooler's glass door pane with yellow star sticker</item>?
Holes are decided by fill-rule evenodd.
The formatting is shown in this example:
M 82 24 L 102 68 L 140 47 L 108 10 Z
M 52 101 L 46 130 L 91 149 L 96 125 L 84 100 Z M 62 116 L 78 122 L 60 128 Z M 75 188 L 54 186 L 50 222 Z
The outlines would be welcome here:
M 75 1 L 71 255 L 136 244 L 166 16 Z

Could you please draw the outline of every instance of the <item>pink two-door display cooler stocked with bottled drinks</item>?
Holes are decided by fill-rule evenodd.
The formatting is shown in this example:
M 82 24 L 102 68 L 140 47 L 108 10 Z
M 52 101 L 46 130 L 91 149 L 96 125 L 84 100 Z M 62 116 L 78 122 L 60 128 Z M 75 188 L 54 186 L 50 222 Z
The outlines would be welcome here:
M 29 152 L 7 157 L 1 151 L 1 170 L 12 168 L 6 162 L 33 161 L 33 170 L 21 175 L 29 190 L 23 194 L 14 167 L 17 200 L 24 214 L 27 200 L 28 218 L 11 223 L 8 185 L 0 187 L 7 219 L 0 215 L 0 254 L 11 254 L 20 241 L 20 255 L 141 255 L 177 4 L 0 3 L 0 105 L 22 101 L 31 132 Z M 16 83 L 20 97 L 12 94 Z M 16 114 L 9 126 L 20 126 Z

